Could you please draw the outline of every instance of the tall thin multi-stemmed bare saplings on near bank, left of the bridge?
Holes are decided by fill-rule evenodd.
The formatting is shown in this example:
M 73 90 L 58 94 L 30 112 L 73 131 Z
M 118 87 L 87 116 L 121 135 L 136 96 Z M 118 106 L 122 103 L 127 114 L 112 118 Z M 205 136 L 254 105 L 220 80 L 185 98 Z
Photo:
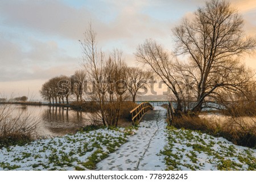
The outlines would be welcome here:
M 117 79 L 122 78 L 125 62 L 122 53 L 114 50 L 108 59 L 104 58 L 104 53 L 97 49 L 96 33 L 91 24 L 84 33 L 84 41 L 80 41 L 84 53 L 84 67 L 93 85 L 95 94 L 91 99 L 100 105 L 98 117 L 105 126 L 118 124 L 120 103 L 123 101 L 122 83 Z M 125 79 L 125 77 L 123 77 Z

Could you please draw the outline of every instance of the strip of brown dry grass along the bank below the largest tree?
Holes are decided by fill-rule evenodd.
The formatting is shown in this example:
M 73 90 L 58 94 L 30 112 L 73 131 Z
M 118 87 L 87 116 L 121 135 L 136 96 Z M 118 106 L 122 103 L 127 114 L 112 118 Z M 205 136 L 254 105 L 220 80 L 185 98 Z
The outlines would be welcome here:
M 249 125 L 243 117 L 226 117 L 223 122 L 211 121 L 209 118 L 198 116 L 174 117 L 172 125 L 176 128 L 200 130 L 203 133 L 215 137 L 224 137 L 236 145 L 256 147 L 256 118 L 251 117 L 254 122 Z

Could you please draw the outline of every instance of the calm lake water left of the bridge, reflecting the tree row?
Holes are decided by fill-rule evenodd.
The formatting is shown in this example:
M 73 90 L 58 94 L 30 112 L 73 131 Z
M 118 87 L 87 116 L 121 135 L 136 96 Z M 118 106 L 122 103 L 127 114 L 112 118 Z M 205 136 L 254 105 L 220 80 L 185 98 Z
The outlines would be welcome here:
M 55 137 L 76 133 L 82 126 L 90 125 L 92 113 L 74 111 L 70 108 L 52 107 L 48 105 L 12 105 L 13 117 L 19 113 L 30 115 L 33 121 L 38 122 L 36 132 L 40 136 Z

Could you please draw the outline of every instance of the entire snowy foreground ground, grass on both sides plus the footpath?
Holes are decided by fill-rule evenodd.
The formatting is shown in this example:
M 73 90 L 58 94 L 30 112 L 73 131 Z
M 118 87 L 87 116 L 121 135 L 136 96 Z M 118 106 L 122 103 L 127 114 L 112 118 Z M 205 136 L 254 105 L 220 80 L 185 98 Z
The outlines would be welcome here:
M 155 106 L 134 128 L 98 129 L 0 149 L 0 170 L 256 170 L 256 150 L 166 127 Z

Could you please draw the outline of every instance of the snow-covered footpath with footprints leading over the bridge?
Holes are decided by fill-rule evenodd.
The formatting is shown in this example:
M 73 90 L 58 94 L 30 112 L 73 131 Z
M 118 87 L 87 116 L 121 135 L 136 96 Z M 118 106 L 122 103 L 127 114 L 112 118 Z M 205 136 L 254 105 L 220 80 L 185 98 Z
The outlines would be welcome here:
M 165 130 L 166 109 L 155 107 L 142 118 L 137 134 L 98 163 L 97 170 L 165 170 L 159 154 L 167 143 Z

